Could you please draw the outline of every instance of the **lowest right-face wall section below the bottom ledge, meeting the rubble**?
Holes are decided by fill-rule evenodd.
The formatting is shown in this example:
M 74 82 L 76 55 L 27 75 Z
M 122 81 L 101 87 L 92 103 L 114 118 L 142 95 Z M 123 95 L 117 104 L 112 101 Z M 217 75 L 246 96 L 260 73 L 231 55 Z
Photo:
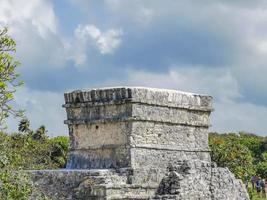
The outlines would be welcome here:
M 209 152 L 173 151 L 167 149 L 132 148 L 131 183 L 159 183 L 168 170 L 168 166 L 181 160 L 198 160 L 210 163 Z

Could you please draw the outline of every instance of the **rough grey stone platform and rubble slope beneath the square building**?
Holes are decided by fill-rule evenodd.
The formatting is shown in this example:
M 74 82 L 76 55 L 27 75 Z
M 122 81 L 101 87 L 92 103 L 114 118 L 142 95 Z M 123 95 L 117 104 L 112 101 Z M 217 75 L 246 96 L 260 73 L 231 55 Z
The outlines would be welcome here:
M 225 168 L 190 160 L 170 165 L 160 183 L 131 184 L 129 169 L 27 171 L 53 200 L 249 200 L 241 181 Z M 32 197 L 34 199 L 34 196 Z

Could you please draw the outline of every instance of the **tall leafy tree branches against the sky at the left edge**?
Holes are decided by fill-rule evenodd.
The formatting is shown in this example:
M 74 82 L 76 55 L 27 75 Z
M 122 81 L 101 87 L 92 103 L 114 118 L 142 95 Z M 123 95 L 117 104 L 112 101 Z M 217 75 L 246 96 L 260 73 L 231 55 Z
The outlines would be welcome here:
M 14 109 L 10 102 L 16 89 L 23 84 L 18 81 L 16 72 L 19 62 L 13 57 L 16 42 L 8 35 L 8 29 L 0 29 L 0 128 L 4 128 L 4 120 L 9 116 L 22 116 L 21 110 Z

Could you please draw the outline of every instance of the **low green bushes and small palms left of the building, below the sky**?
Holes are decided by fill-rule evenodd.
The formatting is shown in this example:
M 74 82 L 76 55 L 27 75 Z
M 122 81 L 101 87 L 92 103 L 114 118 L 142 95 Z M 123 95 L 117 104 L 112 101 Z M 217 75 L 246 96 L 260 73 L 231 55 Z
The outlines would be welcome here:
M 13 134 L 0 132 L 0 199 L 26 200 L 32 193 L 38 194 L 35 199 L 47 199 L 18 170 L 64 168 L 69 139 L 49 138 L 44 126 L 33 131 L 27 119 L 21 120 L 19 130 Z

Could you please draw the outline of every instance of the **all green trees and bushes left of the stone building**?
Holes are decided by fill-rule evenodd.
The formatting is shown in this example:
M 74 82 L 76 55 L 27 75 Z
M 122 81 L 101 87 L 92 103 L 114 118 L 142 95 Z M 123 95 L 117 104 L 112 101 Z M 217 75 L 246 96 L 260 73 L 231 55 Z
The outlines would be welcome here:
M 23 82 L 16 72 L 19 62 L 15 60 L 16 42 L 8 35 L 7 28 L 0 28 L 0 199 L 27 200 L 47 199 L 36 191 L 26 173 L 21 169 L 55 169 L 64 167 L 68 150 L 68 138 L 49 139 L 45 126 L 30 129 L 27 119 L 21 120 L 19 133 L 7 134 L 5 120 L 11 115 L 22 117 L 23 111 L 12 107 L 14 93 Z

